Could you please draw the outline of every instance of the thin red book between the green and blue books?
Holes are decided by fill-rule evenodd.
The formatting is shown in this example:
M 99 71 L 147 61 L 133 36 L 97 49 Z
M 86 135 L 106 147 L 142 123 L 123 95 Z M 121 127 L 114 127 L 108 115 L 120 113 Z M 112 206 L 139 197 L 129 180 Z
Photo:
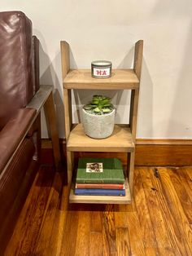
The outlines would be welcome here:
M 124 189 L 124 184 L 110 183 L 76 183 L 76 188 Z

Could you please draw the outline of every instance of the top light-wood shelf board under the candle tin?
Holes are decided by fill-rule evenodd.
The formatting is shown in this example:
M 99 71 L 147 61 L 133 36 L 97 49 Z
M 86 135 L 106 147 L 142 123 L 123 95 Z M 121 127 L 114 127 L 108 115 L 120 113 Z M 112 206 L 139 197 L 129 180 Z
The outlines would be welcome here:
M 138 86 L 133 69 L 112 69 L 111 77 L 103 79 L 91 77 L 89 69 L 72 69 L 63 79 L 65 89 L 130 90 Z

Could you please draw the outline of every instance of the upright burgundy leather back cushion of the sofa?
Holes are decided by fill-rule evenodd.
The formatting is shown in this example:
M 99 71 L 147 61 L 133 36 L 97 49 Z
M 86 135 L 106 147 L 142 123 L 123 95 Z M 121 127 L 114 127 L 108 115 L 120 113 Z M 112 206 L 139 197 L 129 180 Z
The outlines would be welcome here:
M 0 130 L 15 108 L 33 98 L 32 22 L 21 11 L 0 12 Z

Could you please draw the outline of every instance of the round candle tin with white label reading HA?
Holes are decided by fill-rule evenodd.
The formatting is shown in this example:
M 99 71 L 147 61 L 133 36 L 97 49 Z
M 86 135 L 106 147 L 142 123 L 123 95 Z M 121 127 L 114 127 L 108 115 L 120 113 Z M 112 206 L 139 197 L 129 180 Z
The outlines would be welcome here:
M 91 75 L 95 78 L 111 77 L 111 61 L 96 60 L 91 63 Z

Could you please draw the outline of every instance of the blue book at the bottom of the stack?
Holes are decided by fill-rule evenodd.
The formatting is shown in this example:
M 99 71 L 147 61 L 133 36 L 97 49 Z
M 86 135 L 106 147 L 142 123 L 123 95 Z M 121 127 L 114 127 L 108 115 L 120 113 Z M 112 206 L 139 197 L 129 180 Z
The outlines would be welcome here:
M 125 190 L 124 189 L 75 188 L 75 195 L 125 196 Z

